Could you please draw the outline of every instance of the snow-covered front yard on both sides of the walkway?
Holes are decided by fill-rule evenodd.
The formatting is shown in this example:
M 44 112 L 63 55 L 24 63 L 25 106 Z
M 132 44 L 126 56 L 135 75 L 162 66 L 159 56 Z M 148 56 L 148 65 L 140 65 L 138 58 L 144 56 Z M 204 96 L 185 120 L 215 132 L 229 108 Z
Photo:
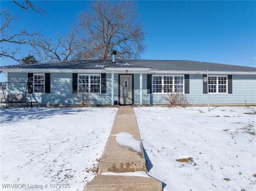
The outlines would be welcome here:
M 210 109 L 134 108 L 149 174 L 164 191 L 256 190 L 256 108 Z M 0 109 L 0 190 L 82 191 L 95 176 L 116 111 Z M 176 161 L 183 158 L 189 162 Z

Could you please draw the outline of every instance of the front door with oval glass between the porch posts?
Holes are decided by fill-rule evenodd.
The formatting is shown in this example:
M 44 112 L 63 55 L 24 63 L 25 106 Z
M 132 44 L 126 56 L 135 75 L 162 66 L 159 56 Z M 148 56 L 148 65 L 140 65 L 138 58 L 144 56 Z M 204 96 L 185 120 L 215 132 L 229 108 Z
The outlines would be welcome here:
M 120 75 L 120 104 L 132 104 L 132 75 Z

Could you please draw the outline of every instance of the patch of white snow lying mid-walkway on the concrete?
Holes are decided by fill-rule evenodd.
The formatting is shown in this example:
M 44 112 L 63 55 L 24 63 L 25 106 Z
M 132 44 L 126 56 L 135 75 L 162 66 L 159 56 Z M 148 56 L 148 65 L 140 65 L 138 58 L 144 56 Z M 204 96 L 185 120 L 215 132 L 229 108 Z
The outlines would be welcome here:
M 120 146 L 127 146 L 129 148 L 132 148 L 136 152 L 142 152 L 140 141 L 133 138 L 133 135 L 127 132 L 120 132 L 116 135 L 116 142 Z

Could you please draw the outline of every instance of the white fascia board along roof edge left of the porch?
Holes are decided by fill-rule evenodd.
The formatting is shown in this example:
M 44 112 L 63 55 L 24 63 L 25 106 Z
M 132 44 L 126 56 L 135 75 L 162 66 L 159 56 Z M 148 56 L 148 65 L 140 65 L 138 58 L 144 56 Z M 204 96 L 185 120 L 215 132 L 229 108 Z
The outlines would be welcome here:
M 30 68 L 18 69 L 18 68 L 6 68 L 6 69 L 1 69 L 1 72 L 106 73 L 106 70 L 104 70 L 104 69 L 98 69 L 97 70 L 97 69 L 30 69 Z

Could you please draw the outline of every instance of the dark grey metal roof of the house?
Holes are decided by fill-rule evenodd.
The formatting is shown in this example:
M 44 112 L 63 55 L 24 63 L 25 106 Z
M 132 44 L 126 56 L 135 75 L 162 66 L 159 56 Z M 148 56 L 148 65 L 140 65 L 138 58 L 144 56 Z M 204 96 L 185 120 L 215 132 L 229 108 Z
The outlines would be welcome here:
M 37 63 L 31 65 L 12 65 L 0 67 L 1 71 L 8 69 L 104 69 L 104 68 L 148 68 L 161 71 L 233 71 L 256 72 L 256 67 L 245 67 L 219 63 L 209 63 L 189 60 L 116 60 L 112 59 L 84 59 L 59 62 Z

